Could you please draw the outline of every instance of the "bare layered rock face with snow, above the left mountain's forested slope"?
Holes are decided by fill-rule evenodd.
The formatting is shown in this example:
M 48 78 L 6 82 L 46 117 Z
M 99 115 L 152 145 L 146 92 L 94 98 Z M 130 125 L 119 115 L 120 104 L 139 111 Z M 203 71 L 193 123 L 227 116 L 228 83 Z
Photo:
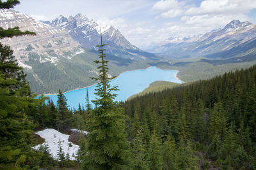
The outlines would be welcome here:
M 22 31 L 36 32 L 36 36 L 1 39 L 1 43 L 12 46 L 20 66 L 32 69 L 31 66 L 25 64 L 29 59 L 38 60 L 41 63 L 50 61 L 56 65 L 61 57 L 69 59 L 72 57 L 72 55 L 66 55 L 65 53 L 83 52 L 83 48 L 63 29 L 37 22 L 28 15 L 15 10 L 1 9 L 0 27 L 7 29 L 15 26 L 18 26 Z M 32 55 L 36 55 L 38 58 L 33 58 Z

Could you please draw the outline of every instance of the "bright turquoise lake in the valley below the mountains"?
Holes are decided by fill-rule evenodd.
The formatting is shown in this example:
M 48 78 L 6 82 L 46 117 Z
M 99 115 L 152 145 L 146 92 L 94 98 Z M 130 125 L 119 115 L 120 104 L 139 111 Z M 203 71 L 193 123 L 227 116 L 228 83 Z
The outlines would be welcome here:
M 121 73 L 118 77 L 111 81 L 111 86 L 118 86 L 116 101 L 125 101 L 128 97 L 133 94 L 138 94 L 142 90 L 146 89 L 150 83 L 157 80 L 172 81 L 175 83 L 182 83 L 182 81 L 175 78 L 178 71 L 175 70 L 163 70 L 155 66 L 148 67 L 147 69 L 138 69 L 134 71 L 127 71 Z M 90 101 L 95 99 L 95 87 L 93 85 L 88 87 L 88 94 Z M 83 89 L 72 90 L 66 92 L 65 97 L 67 98 L 67 104 L 70 108 L 78 108 L 78 104 L 85 106 L 86 87 Z M 57 95 L 49 95 L 54 102 L 57 103 Z M 93 105 L 93 104 L 92 104 Z

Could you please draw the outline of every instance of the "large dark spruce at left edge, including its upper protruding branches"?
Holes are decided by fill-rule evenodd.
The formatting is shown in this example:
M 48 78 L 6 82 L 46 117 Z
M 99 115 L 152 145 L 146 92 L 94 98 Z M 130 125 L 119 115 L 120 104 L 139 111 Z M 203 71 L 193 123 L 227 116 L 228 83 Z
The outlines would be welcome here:
M 0 1 L 0 9 L 13 8 L 17 0 Z M 19 27 L 3 29 L 0 39 L 35 32 L 22 32 Z M 35 99 L 31 97 L 26 74 L 17 66 L 10 46 L 0 43 L 0 169 L 19 169 L 31 151 L 29 136 L 33 124 L 28 120 L 28 106 Z

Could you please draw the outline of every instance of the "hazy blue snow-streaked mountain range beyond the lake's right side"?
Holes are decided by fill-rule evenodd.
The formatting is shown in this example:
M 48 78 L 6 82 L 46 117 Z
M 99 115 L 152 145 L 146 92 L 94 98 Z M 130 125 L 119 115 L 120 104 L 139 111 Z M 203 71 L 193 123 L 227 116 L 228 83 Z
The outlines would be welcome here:
M 189 37 L 171 37 L 161 43 L 151 43 L 147 51 L 168 57 L 207 57 L 223 59 L 240 57 L 256 51 L 256 25 L 232 20 L 223 29 Z M 250 45 L 250 46 L 248 46 Z

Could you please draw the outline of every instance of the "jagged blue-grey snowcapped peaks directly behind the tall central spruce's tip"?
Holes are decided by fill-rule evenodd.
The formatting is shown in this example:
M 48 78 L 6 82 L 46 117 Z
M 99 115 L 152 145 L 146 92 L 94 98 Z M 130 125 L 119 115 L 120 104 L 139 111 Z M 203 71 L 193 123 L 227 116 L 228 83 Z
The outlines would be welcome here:
M 97 50 L 96 45 L 99 45 L 100 42 L 101 29 L 104 43 L 109 44 L 106 46 L 107 53 L 128 59 L 154 59 L 154 57 L 156 57 L 132 45 L 121 32 L 113 26 L 106 25 L 100 27 L 95 20 L 87 18 L 81 13 L 68 18 L 60 16 L 52 20 L 50 25 L 52 25 L 52 27 L 65 29 L 65 31 L 84 48 Z

